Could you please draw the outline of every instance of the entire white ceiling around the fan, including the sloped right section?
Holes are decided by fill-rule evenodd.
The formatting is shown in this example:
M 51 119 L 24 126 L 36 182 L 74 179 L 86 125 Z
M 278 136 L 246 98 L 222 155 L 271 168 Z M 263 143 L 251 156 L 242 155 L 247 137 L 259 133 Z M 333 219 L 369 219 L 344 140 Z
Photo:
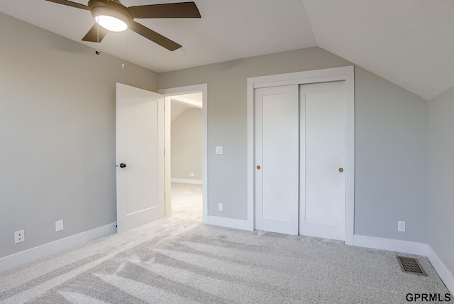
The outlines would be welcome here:
M 167 72 L 318 45 L 425 99 L 454 86 L 453 0 L 194 1 L 200 19 L 136 19 L 184 53 L 126 31 L 125 60 Z M 81 41 L 94 24 L 89 11 L 44 0 L 1 0 L 0 11 L 96 48 Z M 121 58 L 122 40 L 123 33 L 109 33 L 99 50 Z

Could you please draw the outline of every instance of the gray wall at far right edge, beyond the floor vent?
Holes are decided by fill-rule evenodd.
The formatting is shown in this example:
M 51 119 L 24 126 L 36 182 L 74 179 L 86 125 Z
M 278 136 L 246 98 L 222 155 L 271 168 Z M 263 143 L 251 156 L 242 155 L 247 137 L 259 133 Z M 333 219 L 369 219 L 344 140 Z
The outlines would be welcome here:
M 429 241 L 454 273 L 454 88 L 428 102 Z

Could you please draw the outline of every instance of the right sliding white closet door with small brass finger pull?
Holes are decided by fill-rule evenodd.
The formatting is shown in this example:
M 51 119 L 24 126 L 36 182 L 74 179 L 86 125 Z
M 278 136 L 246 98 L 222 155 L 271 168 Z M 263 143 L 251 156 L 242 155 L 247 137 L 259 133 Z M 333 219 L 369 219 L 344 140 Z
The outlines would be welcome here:
M 345 82 L 300 87 L 299 234 L 345 239 Z

